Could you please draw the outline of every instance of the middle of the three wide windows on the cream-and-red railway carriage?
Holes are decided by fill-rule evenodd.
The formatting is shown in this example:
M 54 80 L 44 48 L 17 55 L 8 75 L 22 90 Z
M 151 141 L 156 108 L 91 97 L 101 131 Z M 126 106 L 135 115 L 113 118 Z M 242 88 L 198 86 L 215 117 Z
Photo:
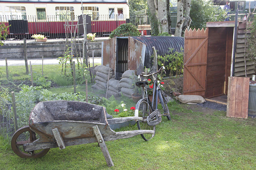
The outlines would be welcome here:
M 55 14 L 61 21 L 74 20 L 74 7 L 55 7 Z

